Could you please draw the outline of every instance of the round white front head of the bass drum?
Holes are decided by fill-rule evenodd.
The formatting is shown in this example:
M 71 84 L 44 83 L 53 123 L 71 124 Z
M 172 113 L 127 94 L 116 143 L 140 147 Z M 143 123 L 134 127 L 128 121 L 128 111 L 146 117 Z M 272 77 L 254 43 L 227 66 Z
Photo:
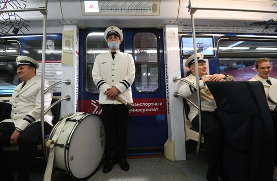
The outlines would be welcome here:
M 67 165 L 76 178 L 86 178 L 96 170 L 105 150 L 102 119 L 93 114 L 83 118 L 73 130 L 67 152 Z

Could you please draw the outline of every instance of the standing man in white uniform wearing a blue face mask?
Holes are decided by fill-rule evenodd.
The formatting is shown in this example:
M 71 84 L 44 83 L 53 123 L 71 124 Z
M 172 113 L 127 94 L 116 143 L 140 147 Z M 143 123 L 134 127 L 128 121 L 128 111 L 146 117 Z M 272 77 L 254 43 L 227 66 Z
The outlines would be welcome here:
M 117 27 L 109 27 L 104 33 L 109 52 L 96 56 L 92 77 L 99 89 L 99 103 L 103 111 L 106 133 L 106 158 L 103 172 L 112 170 L 119 162 L 121 169 L 129 170 L 126 161 L 127 120 L 129 110 L 116 100 L 118 96 L 132 103 L 131 85 L 134 81 L 134 61 L 130 54 L 119 51 L 123 34 Z

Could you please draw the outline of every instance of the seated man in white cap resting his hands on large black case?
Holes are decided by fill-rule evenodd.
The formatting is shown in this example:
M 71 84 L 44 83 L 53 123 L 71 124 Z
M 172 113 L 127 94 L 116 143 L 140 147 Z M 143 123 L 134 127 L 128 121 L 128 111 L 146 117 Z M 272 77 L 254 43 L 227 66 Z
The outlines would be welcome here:
M 215 109 L 217 107 L 215 99 L 205 83 L 207 81 L 218 82 L 233 80 L 233 77 L 225 74 L 206 75 L 205 60 L 201 53 L 197 53 L 197 61 L 200 79 L 199 87 L 201 97 L 201 125 L 202 133 L 205 139 L 204 142 L 206 146 L 207 159 L 209 162 L 209 169 L 207 171 L 206 178 L 209 181 L 223 181 L 225 180 L 221 175 L 221 144 L 223 131 L 221 123 L 215 114 Z M 185 66 L 190 69 L 191 74 L 184 79 L 196 86 L 194 55 L 190 56 L 186 60 Z M 181 82 L 179 92 L 183 97 L 189 98 L 196 105 L 198 105 L 197 93 L 192 86 L 185 82 Z M 189 102 L 188 105 L 190 108 L 188 118 L 191 121 L 193 128 L 198 130 L 198 109 Z

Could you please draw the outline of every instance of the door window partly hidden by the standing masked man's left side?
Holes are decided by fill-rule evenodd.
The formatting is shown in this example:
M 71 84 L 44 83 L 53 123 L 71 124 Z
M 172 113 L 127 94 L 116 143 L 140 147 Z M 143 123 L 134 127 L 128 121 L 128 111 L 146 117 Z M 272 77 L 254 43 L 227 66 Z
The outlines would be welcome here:
M 99 92 L 93 82 L 91 72 L 96 56 L 108 51 L 109 47 L 104 39 L 104 33 L 92 32 L 88 34 L 86 40 L 86 89 L 88 92 Z

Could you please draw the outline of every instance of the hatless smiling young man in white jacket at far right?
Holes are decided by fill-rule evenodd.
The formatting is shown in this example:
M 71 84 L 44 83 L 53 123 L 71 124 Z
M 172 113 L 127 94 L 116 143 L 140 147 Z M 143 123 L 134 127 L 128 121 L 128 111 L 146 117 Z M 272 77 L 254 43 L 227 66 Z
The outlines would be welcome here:
M 259 58 L 254 63 L 255 71 L 257 75 L 255 75 L 250 81 L 261 81 L 264 87 L 264 92 L 267 100 L 267 104 L 269 106 L 270 111 L 277 112 L 277 104 L 270 100 L 268 97 L 268 89 L 271 85 L 277 84 L 277 79 L 269 77 L 271 73 L 271 65 L 268 58 Z

